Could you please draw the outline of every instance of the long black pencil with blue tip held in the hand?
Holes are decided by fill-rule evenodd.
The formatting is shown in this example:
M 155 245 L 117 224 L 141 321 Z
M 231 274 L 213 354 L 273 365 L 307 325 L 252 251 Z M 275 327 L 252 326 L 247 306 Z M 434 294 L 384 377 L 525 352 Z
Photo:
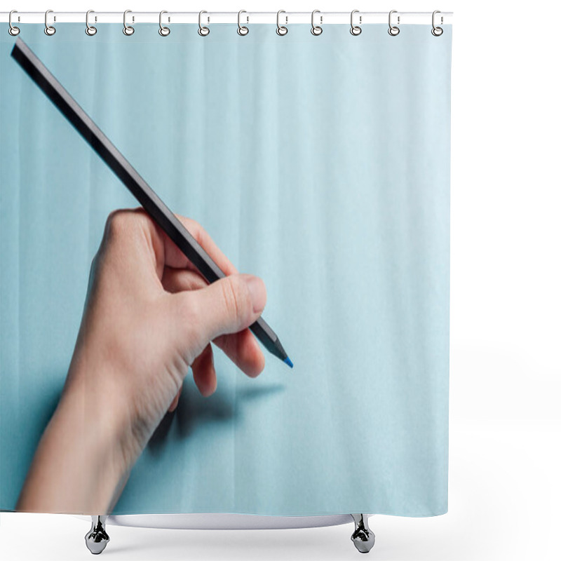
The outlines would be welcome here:
M 61 83 L 49 72 L 35 53 L 18 37 L 12 49 L 12 57 L 29 74 L 31 79 L 43 90 L 47 97 L 60 109 L 63 115 L 72 123 L 74 128 L 83 136 L 90 146 L 99 154 L 109 168 L 128 187 L 148 214 L 156 221 L 163 231 L 177 245 L 184 255 L 191 261 L 208 283 L 214 283 L 226 276 L 219 266 L 212 261 L 196 239 L 189 234 L 187 228 L 180 222 L 161 198 L 149 187 L 140 174 L 126 160 L 125 156 L 116 149 L 114 144 L 105 136 L 100 128 L 90 119 L 74 98 L 62 87 Z M 263 318 L 257 319 L 250 325 L 255 337 L 274 356 L 283 360 L 292 368 L 292 361 L 280 344 L 276 333 Z

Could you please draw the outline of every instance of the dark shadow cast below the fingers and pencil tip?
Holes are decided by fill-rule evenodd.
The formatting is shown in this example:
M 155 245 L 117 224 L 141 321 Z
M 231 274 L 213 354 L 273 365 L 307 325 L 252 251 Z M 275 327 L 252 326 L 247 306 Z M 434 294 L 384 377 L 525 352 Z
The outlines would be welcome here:
M 177 409 L 165 414 L 149 440 L 149 451 L 157 454 L 165 445 L 166 440 L 171 438 L 171 431 L 173 431 L 174 438 L 183 440 L 196 431 L 197 426 L 201 424 L 222 423 L 224 426 L 230 426 L 243 414 L 245 404 L 249 405 L 252 401 L 272 396 L 284 389 L 284 384 L 245 386 L 236 390 L 234 402 L 224 393 L 219 392 L 210 398 L 203 398 L 195 386 L 185 383 Z

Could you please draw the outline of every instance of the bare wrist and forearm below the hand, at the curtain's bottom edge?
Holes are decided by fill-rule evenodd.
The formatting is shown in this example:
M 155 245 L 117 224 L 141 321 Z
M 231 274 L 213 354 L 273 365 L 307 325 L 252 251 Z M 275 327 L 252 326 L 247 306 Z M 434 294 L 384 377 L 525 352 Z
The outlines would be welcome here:
M 72 374 L 72 375 L 71 375 Z M 111 388 L 69 372 L 37 447 L 17 510 L 111 513 L 132 464 L 123 453 L 124 422 Z

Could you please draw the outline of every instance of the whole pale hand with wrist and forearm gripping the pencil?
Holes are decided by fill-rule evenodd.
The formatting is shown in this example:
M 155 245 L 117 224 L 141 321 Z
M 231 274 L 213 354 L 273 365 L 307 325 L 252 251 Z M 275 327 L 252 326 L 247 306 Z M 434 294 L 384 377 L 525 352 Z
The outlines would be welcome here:
M 142 208 L 111 212 L 62 396 L 17 511 L 110 514 L 189 368 L 203 396 L 216 390 L 211 342 L 248 376 L 262 372 L 248 326 L 264 309 L 263 281 L 238 273 L 199 224 L 177 218 L 227 277 L 208 285 Z

